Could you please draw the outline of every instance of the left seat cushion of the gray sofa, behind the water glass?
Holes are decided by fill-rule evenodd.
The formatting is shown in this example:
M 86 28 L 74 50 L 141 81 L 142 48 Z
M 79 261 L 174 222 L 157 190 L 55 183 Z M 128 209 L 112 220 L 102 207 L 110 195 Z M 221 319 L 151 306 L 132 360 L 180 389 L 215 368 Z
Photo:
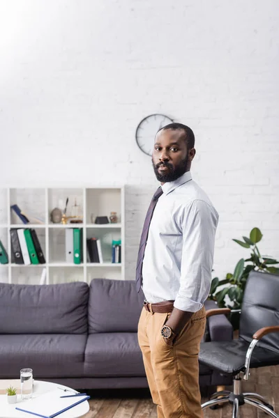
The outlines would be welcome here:
M 0 335 L 0 378 L 19 378 L 30 367 L 34 378 L 83 376 L 86 335 Z

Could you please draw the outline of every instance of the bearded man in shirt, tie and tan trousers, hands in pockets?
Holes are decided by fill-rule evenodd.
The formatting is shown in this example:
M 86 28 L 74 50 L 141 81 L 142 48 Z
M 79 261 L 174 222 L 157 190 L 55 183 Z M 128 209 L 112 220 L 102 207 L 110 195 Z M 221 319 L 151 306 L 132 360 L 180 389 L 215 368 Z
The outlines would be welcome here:
M 146 298 L 138 339 L 158 418 L 203 417 L 198 353 L 218 213 L 192 180 L 194 146 L 193 131 L 181 123 L 157 132 L 152 162 L 161 186 L 137 260 L 137 289 Z

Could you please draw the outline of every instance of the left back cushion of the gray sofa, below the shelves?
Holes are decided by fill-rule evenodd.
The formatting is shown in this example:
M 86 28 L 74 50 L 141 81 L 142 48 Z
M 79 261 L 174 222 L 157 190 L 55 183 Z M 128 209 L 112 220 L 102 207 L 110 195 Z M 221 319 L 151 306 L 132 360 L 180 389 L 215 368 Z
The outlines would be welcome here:
M 0 334 L 84 334 L 89 286 L 83 282 L 0 284 Z

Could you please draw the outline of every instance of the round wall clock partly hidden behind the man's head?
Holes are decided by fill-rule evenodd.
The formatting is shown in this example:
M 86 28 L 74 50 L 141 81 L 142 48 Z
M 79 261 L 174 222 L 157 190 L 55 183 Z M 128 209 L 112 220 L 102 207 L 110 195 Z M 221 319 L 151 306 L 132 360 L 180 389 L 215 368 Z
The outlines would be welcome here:
M 144 154 L 152 155 L 156 132 L 165 125 L 172 123 L 172 119 L 161 114 L 146 116 L 137 126 L 135 139 Z

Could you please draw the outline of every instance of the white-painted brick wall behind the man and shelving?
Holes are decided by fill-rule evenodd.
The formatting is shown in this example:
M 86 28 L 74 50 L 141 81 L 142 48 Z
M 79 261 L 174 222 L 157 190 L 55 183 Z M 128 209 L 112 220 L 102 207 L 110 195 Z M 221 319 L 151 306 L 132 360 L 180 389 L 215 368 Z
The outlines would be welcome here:
M 220 213 L 215 273 L 279 256 L 277 0 L 10 0 L 0 6 L 0 187 L 127 184 L 126 277 L 156 180 L 135 144 L 160 112 L 193 128 Z

